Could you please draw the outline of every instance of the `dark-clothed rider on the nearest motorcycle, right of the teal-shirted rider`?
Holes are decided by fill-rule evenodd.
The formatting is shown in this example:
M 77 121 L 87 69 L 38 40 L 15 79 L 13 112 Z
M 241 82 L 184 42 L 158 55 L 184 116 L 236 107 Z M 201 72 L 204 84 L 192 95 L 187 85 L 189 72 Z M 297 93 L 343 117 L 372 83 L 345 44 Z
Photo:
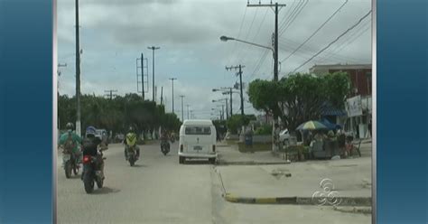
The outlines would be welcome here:
M 107 145 L 103 143 L 102 139 L 96 137 L 95 134 L 95 130 L 92 128 L 87 129 L 86 137 L 82 141 L 82 152 L 83 155 L 90 155 L 97 158 L 98 171 L 101 172 L 100 174 L 104 179 L 104 159 L 102 151 L 107 150 Z M 100 152 L 98 152 L 98 147 Z

